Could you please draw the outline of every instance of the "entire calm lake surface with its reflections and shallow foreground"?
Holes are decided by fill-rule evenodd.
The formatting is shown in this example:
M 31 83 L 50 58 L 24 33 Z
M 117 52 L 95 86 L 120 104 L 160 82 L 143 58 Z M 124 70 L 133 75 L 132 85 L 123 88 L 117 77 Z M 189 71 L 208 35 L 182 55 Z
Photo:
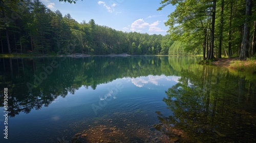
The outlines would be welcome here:
M 256 75 L 199 60 L 1 58 L 0 142 L 256 142 Z

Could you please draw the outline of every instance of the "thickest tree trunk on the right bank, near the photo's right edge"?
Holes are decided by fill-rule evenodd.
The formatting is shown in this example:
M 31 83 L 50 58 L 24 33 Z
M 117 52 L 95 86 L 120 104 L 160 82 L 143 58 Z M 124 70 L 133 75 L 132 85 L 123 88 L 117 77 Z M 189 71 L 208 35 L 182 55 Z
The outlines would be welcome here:
M 244 23 L 244 34 L 243 34 L 243 41 L 242 41 L 242 49 L 240 53 L 240 60 L 245 60 L 249 57 L 249 45 L 250 45 L 250 23 L 249 17 L 251 16 L 251 6 L 252 0 L 246 0 L 246 7 L 245 7 L 245 23 Z

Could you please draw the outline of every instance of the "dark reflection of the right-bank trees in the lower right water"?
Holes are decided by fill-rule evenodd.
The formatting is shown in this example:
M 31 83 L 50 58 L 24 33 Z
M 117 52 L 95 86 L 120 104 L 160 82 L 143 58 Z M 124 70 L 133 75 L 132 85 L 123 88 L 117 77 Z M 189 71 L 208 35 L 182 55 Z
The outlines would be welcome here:
M 156 129 L 179 142 L 256 142 L 256 84 L 219 67 L 181 71 Z

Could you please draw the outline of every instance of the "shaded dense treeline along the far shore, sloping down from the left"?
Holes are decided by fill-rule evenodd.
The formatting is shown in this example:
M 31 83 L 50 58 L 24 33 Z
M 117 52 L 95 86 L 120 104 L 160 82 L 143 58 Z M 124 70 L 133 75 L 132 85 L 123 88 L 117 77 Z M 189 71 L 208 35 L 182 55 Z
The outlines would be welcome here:
M 97 25 L 93 19 L 78 23 L 70 14 L 62 16 L 58 10 L 53 12 L 39 0 L 0 2 L 1 53 L 178 54 L 169 51 L 174 42 L 170 35 L 117 31 Z

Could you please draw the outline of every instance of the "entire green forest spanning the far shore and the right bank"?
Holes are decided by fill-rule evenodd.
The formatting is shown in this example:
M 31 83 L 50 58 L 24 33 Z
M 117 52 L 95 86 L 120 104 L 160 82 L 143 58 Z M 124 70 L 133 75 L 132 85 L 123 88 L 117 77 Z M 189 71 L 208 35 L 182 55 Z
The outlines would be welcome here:
M 60 0 L 75 3 L 76 0 Z M 255 55 L 255 5 L 251 0 L 161 1 L 176 5 L 166 35 L 122 32 L 81 23 L 39 0 L 1 2 L 1 53 L 32 55 L 203 55 L 204 59 Z M 86 2 L 84 2 L 86 3 Z

